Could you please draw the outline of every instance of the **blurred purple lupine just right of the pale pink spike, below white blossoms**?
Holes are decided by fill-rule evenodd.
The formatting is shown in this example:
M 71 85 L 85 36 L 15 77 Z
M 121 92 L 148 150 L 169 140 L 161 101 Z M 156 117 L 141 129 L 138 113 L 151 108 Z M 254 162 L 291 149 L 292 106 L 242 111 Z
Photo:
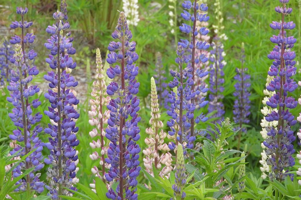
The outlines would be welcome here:
M 222 99 L 224 98 L 222 92 L 224 91 L 224 71 L 223 68 L 225 66 L 224 61 L 224 46 L 218 36 L 214 38 L 216 42 L 213 42 L 213 50 L 210 51 L 210 62 L 209 65 L 209 107 L 208 112 L 214 112 L 212 118 L 215 118 L 216 123 L 221 123 L 224 119 L 224 104 L 222 103 Z

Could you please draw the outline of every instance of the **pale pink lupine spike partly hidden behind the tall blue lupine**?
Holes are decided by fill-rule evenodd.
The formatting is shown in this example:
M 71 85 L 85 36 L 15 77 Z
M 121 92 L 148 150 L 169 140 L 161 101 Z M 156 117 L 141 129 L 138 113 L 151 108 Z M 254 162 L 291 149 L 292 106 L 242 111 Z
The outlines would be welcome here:
M 200 1 L 199 1 L 200 2 Z M 202 1 L 204 4 L 206 4 L 207 3 L 207 0 L 203 0 Z M 200 14 L 207 14 L 207 11 L 206 12 L 201 12 L 200 10 L 199 10 L 199 13 Z M 197 21 L 196 22 L 196 27 L 197 27 L 197 29 L 201 29 L 202 27 L 208 27 L 209 26 L 209 23 L 208 22 L 205 22 L 205 21 L 202 21 L 202 22 L 200 22 L 200 21 Z M 210 43 L 210 36 L 209 36 L 209 34 L 207 34 L 207 35 L 197 35 L 197 39 L 198 40 L 200 40 L 200 41 L 204 41 L 204 42 L 207 42 L 208 44 Z M 197 57 L 199 57 L 199 56 L 201 56 L 202 54 L 204 54 L 207 58 L 209 58 L 210 57 L 210 52 L 208 51 L 208 50 L 196 50 L 195 51 L 195 55 L 197 56 Z M 209 67 L 209 62 L 205 62 L 205 63 L 203 63 L 203 62 L 199 62 L 199 63 L 197 63 L 197 64 L 195 64 L 195 68 L 196 69 L 204 69 L 205 71 L 209 71 L 209 69 L 210 69 L 210 67 Z M 202 77 L 202 78 L 200 78 L 200 77 L 196 77 L 195 78 L 195 87 L 197 87 L 198 85 L 201 85 L 201 84 L 203 84 L 203 83 L 205 83 L 205 80 L 208 78 L 208 75 L 206 75 L 206 76 L 204 76 L 204 77 Z M 208 85 L 205 83 L 205 87 L 208 87 Z M 204 97 L 204 96 L 206 96 L 207 95 L 207 93 L 205 92 L 205 93 L 200 93 L 200 95 L 198 95 L 197 96 L 197 100 L 199 100 L 199 99 L 201 99 L 202 97 Z

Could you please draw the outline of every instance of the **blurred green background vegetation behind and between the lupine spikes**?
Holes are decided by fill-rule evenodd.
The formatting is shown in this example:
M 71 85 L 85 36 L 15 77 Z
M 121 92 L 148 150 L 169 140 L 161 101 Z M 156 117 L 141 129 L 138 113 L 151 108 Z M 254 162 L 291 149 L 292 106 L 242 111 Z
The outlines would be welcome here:
M 118 11 L 122 11 L 121 0 L 66 0 L 68 17 L 71 25 L 71 32 L 74 37 L 73 46 L 76 48 L 76 55 L 73 56 L 78 63 L 78 69 L 74 70 L 74 73 L 84 72 L 84 79 L 79 80 L 79 85 L 85 83 L 84 94 L 80 97 L 82 102 L 78 107 L 80 109 L 81 117 L 77 122 L 80 128 L 79 140 L 80 145 L 77 148 L 79 150 L 79 179 L 82 184 L 87 185 L 92 182 L 93 176 L 91 168 L 94 165 L 98 165 L 95 161 L 92 161 L 89 156 L 92 149 L 89 147 L 89 142 L 92 141 L 88 135 L 92 127 L 88 124 L 88 96 L 92 90 L 92 79 L 95 74 L 95 49 L 99 47 L 101 49 L 103 61 L 107 52 L 107 45 L 111 41 L 111 33 L 113 32 L 116 23 Z M 149 126 L 148 121 L 150 118 L 149 109 L 149 93 L 150 93 L 150 78 L 155 74 L 155 60 L 156 53 L 162 54 L 162 61 L 164 69 L 166 70 L 167 81 L 171 80 L 169 75 L 169 69 L 176 68 L 175 38 L 187 38 L 187 35 L 180 33 L 178 29 L 175 29 L 175 34 L 171 33 L 172 27 L 169 25 L 169 1 L 168 0 L 139 0 L 139 18 L 138 26 L 130 26 L 133 33 L 133 41 L 137 43 L 137 53 L 140 56 L 138 60 L 139 75 L 138 80 L 141 83 L 138 96 L 141 99 L 140 116 L 142 121 L 140 123 L 141 140 L 140 145 L 145 147 L 144 138 L 146 137 L 145 128 Z M 214 2 L 208 1 L 209 7 L 209 29 L 212 30 L 212 25 L 216 23 L 214 11 Z M 297 38 L 297 43 L 293 50 L 296 51 L 297 61 L 297 74 L 294 79 L 298 82 L 301 80 L 300 76 L 300 55 L 301 55 L 301 1 L 290 0 L 289 6 L 293 8 L 293 13 L 287 17 L 287 21 L 294 21 L 296 23 L 296 29 L 288 32 L 287 35 L 293 35 Z M 249 69 L 251 75 L 251 115 L 250 124 L 247 126 L 248 132 L 243 135 L 243 141 L 241 150 L 244 150 L 249 154 L 246 162 L 247 171 L 252 171 L 260 176 L 259 160 L 261 158 L 260 152 L 262 151 L 260 143 L 262 137 L 259 133 L 261 130 L 260 122 L 262 114 L 260 109 L 262 108 L 263 89 L 265 89 L 267 71 L 272 61 L 267 58 L 268 53 L 272 50 L 273 44 L 269 38 L 272 35 L 278 34 L 277 31 L 272 30 L 269 24 L 272 21 L 280 21 L 280 15 L 276 14 L 274 8 L 279 5 L 275 0 L 222 0 L 222 13 L 224 16 L 224 33 L 228 36 L 228 40 L 225 41 L 225 61 L 227 65 L 224 67 L 225 71 L 225 90 L 224 90 L 224 105 L 225 105 L 225 117 L 232 119 L 234 96 L 234 75 L 235 68 L 240 66 L 240 47 L 241 43 L 245 44 L 245 66 Z M 180 14 L 182 12 L 182 1 L 177 1 L 177 13 L 178 16 L 177 26 L 182 24 L 182 18 Z M 44 43 L 47 41 L 49 35 L 45 32 L 48 25 L 52 25 L 52 13 L 55 12 L 60 5 L 58 0 L 0 0 L 0 29 L 1 38 L 6 34 L 10 37 L 13 34 L 19 34 L 9 31 L 9 25 L 11 21 L 19 20 L 15 14 L 15 8 L 17 6 L 28 7 L 29 13 L 26 16 L 27 20 L 33 21 L 33 32 L 36 35 L 36 41 L 33 49 L 38 52 L 38 57 L 35 61 L 38 69 L 41 71 L 37 82 L 42 84 L 42 75 L 45 74 L 50 68 L 45 63 L 48 51 L 44 47 Z M 212 37 L 213 31 L 210 31 Z M 83 83 L 84 82 L 84 83 Z M 3 90 L 5 95 L 0 97 L 0 137 L 7 137 L 14 126 L 7 118 L 8 112 L 11 110 L 11 105 L 6 104 L 6 95 L 8 92 Z M 299 98 L 301 89 L 296 89 L 291 95 L 294 98 Z M 43 94 L 40 95 L 42 106 L 39 110 L 43 112 L 47 109 L 48 103 L 45 101 Z M 44 102 L 44 103 L 43 103 Z M 206 113 L 207 108 L 204 108 L 202 112 Z M 301 111 L 300 106 L 292 111 L 295 117 L 299 116 Z M 166 127 L 166 121 L 169 120 L 166 111 L 162 109 L 162 121 Z M 42 126 L 46 127 L 49 122 L 47 117 L 43 117 Z M 210 120 L 206 123 L 200 123 L 198 128 L 207 128 L 210 126 Z M 297 123 L 293 130 L 295 133 L 299 129 L 300 125 Z M 42 136 L 43 141 L 47 141 L 47 136 Z M 236 140 L 233 138 L 230 146 L 235 148 L 237 145 Z M 297 144 L 297 140 L 295 142 Z M 47 150 L 45 150 L 47 151 Z M 47 154 L 47 152 L 45 152 Z M 142 157 L 142 156 L 141 156 Z M 142 160 L 142 159 L 141 159 Z M 88 176 L 87 176 L 88 175 Z M 143 175 L 140 176 L 143 179 Z

